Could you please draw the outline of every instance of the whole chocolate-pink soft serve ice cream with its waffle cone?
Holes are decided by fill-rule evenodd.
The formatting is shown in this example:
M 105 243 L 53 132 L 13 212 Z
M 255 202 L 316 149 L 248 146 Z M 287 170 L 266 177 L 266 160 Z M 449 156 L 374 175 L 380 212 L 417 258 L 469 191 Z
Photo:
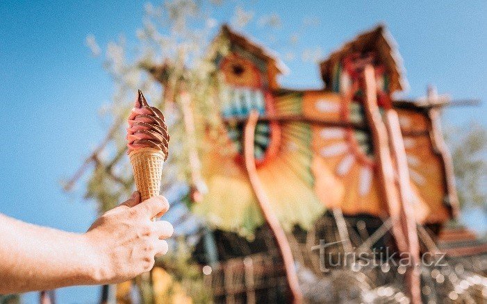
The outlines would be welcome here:
M 135 186 L 142 201 L 159 194 L 168 144 L 169 134 L 163 113 L 151 107 L 139 90 L 138 99 L 129 115 L 127 146 Z

